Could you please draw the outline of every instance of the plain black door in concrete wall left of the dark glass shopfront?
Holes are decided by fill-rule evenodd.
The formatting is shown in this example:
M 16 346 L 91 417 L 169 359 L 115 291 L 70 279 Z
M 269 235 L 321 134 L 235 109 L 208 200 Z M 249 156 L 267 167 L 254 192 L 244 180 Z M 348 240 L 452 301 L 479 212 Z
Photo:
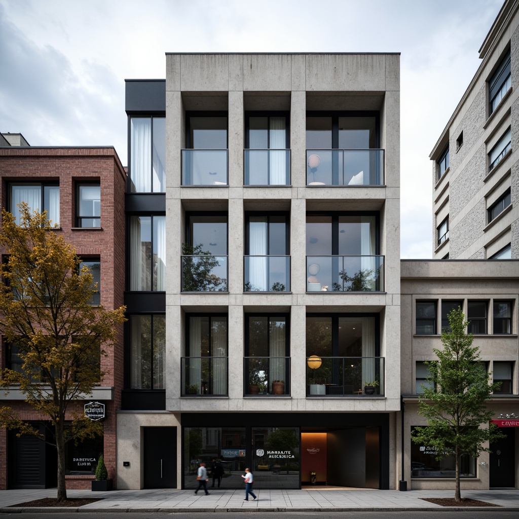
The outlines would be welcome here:
M 144 488 L 176 488 L 176 427 L 144 428 Z

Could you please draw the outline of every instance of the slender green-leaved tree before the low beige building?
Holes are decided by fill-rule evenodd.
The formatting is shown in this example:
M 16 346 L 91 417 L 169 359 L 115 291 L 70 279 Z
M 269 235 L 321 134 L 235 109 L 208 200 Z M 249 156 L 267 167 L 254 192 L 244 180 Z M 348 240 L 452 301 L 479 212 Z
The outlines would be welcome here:
M 449 329 L 442 332 L 443 349 L 434 349 L 438 362 L 427 362 L 430 376 L 422 384 L 418 413 L 427 418 L 427 426 L 416 428 L 413 442 L 436 453 L 436 459 L 452 456 L 456 467 L 455 501 L 460 495 L 460 456 L 479 457 L 489 452 L 485 446 L 502 437 L 486 403 L 499 384 L 490 384 L 479 350 L 472 347 L 472 334 L 466 334 L 468 321 L 461 309 L 447 315 Z M 483 427 L 482 427 L 483 426 Z

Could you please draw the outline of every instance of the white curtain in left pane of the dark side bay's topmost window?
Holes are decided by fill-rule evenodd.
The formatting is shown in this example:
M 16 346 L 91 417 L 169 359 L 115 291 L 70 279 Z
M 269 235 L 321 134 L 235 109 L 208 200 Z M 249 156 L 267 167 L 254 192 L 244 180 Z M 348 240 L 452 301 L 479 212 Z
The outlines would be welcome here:
M 130 177 L 132 191 L 152 192 L 152 120 L 148 117 L 131 118 Z

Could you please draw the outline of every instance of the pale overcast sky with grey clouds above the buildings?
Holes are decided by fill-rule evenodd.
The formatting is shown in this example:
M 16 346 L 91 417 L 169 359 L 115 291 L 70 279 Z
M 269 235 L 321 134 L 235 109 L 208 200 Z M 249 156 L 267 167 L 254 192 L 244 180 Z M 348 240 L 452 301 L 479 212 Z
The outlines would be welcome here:
M 125 79 L 165 52 L 401 52 L 401 256 L 432 256 L 429 153 L 480 64 L 502 0 L 0 0 L 0 131 L 113 145 Z

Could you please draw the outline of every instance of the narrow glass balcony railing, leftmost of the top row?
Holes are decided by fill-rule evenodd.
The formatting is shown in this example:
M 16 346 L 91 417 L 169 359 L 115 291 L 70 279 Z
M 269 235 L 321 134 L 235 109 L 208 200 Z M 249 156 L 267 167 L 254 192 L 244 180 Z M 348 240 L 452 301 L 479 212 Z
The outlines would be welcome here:
M 227 150 L 183 149 L 182 185 L 227 185 Z

